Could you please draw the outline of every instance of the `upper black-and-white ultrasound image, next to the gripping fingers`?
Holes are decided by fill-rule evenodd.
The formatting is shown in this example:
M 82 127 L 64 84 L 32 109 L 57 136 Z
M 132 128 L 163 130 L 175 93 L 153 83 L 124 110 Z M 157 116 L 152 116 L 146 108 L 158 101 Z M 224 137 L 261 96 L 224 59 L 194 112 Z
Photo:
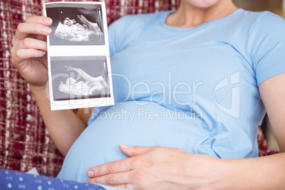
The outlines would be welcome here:
M 105 45 L 100 4 L 47 4 L 50 45 Z

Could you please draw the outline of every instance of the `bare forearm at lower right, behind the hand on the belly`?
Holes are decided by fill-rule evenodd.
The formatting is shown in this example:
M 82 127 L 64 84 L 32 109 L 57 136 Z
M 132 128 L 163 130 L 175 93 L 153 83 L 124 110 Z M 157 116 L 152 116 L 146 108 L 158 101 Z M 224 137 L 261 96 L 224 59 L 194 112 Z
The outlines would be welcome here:
M 221 160 L 222 189 L 285 189 L 285 153 L 266 157 Z

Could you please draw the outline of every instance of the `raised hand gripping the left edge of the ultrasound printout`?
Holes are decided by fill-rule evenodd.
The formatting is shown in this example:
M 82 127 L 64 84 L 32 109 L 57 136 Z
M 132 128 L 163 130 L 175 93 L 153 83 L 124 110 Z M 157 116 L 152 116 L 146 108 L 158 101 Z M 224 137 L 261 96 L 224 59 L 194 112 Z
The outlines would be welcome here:
M 46 36 L 52 19 L 44 16 L 30 16 L 18 25 L 12 39 L 12 62 L 28 84 L 45 86 L 47 75 Z

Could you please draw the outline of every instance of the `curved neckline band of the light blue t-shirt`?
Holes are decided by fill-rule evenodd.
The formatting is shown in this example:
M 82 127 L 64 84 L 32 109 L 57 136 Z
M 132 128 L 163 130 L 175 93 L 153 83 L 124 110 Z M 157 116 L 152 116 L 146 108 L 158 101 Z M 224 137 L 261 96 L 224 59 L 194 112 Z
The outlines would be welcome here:
M 192 30 L 194 28 L 200 28 L 201 26 L 207 26 L 209 23 L 213 23 L 213 22 L 217 22 L 217 21 L 222 21 L 224 19 L 228 19 L 232 16 L 235 16 L 235 14 L 239 13 L 240 11 L 243 11 L 242 8 L 239 8 L 235 11 L 233 11 L 233 13 L 230 13 L 228 16 L 225 16 L 223 18 L 218 18 L 218 19 L 215 19 L 213 21 L 208 21 L 206 23 L 202 23 L 198 26 L 193 26 L 193 27 L 188 27 L 188 28 L 180 28 L 180 27 L 175 27 L 175 26 L 169 26 L 167 23 L 166 23 L 166 20 L 167 20 L 167 16 L 169 16 L 170 14 L 174 13 L 175 11 L 165 11 L 164 12 L 164 16 L 162 16 L 162 24 L 165 28 L 169 28 L 169 29 L 172 29 L 172 30 Z

